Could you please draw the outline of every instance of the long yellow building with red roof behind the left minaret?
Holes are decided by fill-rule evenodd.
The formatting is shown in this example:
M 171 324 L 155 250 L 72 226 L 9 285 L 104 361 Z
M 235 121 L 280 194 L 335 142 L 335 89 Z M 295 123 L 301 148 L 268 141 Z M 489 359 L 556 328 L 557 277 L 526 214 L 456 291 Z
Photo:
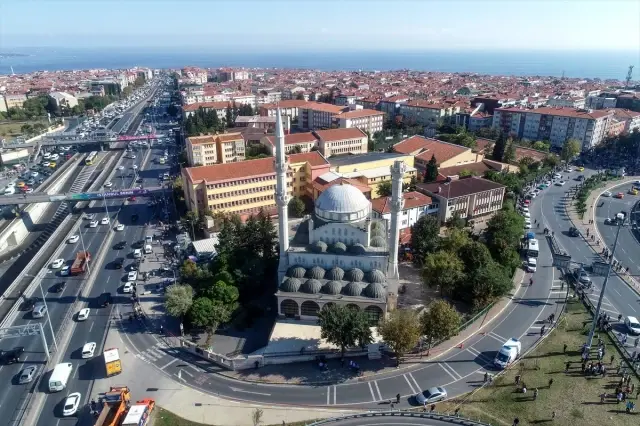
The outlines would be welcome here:
M 290 195 L 308 195 L 313 179 L 329 170 L 318 152 L 288 157 L 287 189 Z M 182 169 L 185 201 L 189 210 L 248 216 L 263 209 L 277 214 L 276 173 L 273 158 Z

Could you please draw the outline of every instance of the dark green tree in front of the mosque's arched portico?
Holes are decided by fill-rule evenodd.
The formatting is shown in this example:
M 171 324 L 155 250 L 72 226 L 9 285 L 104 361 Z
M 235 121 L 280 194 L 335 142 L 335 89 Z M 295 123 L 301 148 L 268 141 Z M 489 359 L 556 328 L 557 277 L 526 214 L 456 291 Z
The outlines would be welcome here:
M 318 314 L 320 336 L 329 343 L 340 347 L 344 353 L 348 347 L 366 346 L 373 341 L 367 314 L 348 306 L 331 305 Z

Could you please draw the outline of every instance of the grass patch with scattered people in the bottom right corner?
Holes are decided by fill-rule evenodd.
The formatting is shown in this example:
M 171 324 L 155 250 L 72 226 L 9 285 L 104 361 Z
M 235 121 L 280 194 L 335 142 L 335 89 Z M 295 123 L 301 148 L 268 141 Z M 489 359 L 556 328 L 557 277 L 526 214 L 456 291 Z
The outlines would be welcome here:
M 606 345 L 605 365 L 608 369 L 606 377 L 585 376 L 581 371 L 579 348 L 586 339 L 592 316 L 579 301 L 570 301 L 567 313 L 561 319 L 557 330 L 517 366 L 507 371 L 494 381 L 490 387 L 482 388 L 475 393 L 467 394 L 457 400 L 440 403 L 436 407 L 439 412 L 453 413 L 460 409 L 460 416 L 479 419 L 493 425 L 511 425 L 518 417 L 521 425 L 551 423 L 567 426 L 607 425 L 637 426 L 640 424 L 640 407 L 635 395 L 631 401 L 636 403 L 636 412 L 625 413 L 625 403 L 616 404 L 614 397 L 600 403 L 600 394 L 613 394 L 621 377 L 616 375 L 616 368 L 621 359 L 613 342 L 606 334 L 594 339 L 597 346 L 598 337 Z M 567 344 L 567 353 L 563 346 Z M 611 355 L 615 355 L 614 367 L 609 364 Z M 591 359 L 596 359 L 595 351 Z M 565 365 L 571 361 L 571 367 L 565 373 Z M 527 385 L 527 393 L 516 392 L 515 376 L 520 374 Z M 549 379 L 553 385 L 549 388 Z M 637 378 L 632 383 L 638 386 Z M 533 391 L 538 388 L 539 394 L 533 400 Z M 552 413 L 555 419 L 552 420 Z

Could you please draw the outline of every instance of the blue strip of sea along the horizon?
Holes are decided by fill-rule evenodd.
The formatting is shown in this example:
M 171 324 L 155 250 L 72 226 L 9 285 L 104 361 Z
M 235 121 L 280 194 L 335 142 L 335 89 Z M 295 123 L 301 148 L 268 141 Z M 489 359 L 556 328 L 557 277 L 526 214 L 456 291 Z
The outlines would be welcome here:
M 26 56 L 11 56 L 22 54 Z M 0 74 L 82 69 L 259 67 L 322 71 L 411 69 L 487 75 L 555 76 L 624 80 L 630 65 L 640 73 L 638 51 L 340 51 L 243 52 L 167 49 L 0 49 Z M 640 80 L 636 78 L 635 80 Z

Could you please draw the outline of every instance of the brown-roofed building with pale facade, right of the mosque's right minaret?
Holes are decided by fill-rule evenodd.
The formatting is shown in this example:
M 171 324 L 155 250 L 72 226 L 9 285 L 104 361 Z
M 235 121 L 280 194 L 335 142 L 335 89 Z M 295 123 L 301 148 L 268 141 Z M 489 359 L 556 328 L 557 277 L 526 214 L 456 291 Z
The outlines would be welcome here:
M 438 203 L 438 217 L 446 223 L 456 214 L 463 219 L 488 219 L 502 209 L 506 187 L 474 176 L 445 183 L 419 183 L 416 188 Z

